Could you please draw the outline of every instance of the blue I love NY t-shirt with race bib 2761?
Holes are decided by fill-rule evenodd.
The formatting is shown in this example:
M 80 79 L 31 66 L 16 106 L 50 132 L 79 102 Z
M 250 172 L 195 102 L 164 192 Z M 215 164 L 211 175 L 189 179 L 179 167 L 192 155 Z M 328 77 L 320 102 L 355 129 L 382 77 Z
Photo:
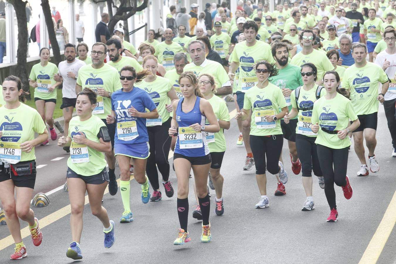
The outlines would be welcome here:
M 111 110 L 116 113 L 116 135 L 114 144 L 133 144 L 148 141 L 146 118 L 132 117 L 128 108 L 133 106 L 138 112 L 156 109 L 150 95 L 145 90 L 133 87 L 128 93 L 124 89 L 115 91 L 111 95 Z M 118 132 L 121 133 L 120 139 Z M 137 132 L 137 133 L 136 133 Z

